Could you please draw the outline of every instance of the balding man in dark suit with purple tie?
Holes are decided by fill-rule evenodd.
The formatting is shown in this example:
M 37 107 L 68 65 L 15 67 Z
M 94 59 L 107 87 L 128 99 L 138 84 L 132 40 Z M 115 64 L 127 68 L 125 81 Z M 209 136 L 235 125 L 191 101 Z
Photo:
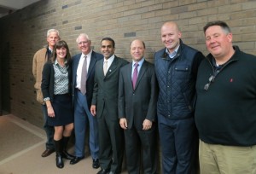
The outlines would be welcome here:
M 157 84 L 154 65 L 145 60 L 144 51 L 143 41 L 132 41 L 132 62 L 122 67 L 119 74 L 119 124 L 125 130 L 126 162 L 130 174 L 140 173 L 141 154 L 143 173 L 157 172 L 154 123 Z

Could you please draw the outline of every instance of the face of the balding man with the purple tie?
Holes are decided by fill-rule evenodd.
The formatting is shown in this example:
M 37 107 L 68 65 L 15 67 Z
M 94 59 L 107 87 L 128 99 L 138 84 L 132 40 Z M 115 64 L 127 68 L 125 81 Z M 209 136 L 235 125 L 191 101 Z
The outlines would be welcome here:
M 141 40 L 134 40 L 131 43 L 130 53 L 132 60 L 135 62 L 141 61 L 143 59 L 145 48 Z

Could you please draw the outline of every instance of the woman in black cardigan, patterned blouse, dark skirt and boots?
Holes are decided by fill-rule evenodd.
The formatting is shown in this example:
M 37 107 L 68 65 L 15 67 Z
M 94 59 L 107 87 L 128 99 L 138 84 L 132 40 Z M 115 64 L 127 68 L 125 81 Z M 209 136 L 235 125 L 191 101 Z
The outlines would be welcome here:
M 55 126 L 56 166 L 63 168 L 67 154 L 67 142 L 73 131 L 71 55 L 63 40 L 55 44 L 51 61 L 44 64 L 41 89 L 47 107 L 47 124 Z

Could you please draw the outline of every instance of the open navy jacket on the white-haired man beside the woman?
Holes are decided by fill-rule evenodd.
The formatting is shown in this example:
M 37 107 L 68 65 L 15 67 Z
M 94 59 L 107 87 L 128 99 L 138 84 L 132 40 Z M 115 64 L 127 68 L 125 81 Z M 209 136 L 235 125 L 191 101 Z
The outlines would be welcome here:
M 77 70 L 79 67 L 79 60 L 81 57 L 82 53 L 79 53 L 78 55 L 73 56 L 73 61 L 72 61 L 72 69 L 73 69 L 73 102 L 74 102 L 74 90 L 77 85 Z M 88 73 L 87 73 L 87 80 L 86 80 L 86 99 L 88 103 L 88 108 L 90 110 L 90 105 L 91 105 L 91 99 L 92 99 L 92 93 L 93 93 L 93 86 L 94 86 L 94 74 L 95 74 L 95 65 L 96 61 L 99 61 L 103 59 L 103 55 L 96 53 L 95 51 L 92 51 L 91 57 L 90 57 L 90 65 L 88 68 Z

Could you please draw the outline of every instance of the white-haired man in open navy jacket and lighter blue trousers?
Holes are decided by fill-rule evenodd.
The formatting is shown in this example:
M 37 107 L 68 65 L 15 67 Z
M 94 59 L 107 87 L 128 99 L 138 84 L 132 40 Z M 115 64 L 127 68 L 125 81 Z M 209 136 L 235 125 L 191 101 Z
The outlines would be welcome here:
M 82 53 L 73 56 L 75 158 L 70 161 L 70 164 L 74 165 L 78 163 L 79 160 L 84 159 L 84 136 L 86 126 L 89 124 L 90 155 L 93 159 L 92 167 L 98 168 L 100 166 L 98 160 L 98 126 L 96 118 L 90 113 L 90 104 L 94 85 L 96 61 L 102 60 L 103 56 L 90 48 L 91 41 L 88 35 L 82 33 L 76 41 Z M 87 73 L 87 75 L 82 77 L 84 63 L 86 63 L 86 66 L 84 67 L 85 74 Z M 84 78 L 86 78 L 86 80 Z

